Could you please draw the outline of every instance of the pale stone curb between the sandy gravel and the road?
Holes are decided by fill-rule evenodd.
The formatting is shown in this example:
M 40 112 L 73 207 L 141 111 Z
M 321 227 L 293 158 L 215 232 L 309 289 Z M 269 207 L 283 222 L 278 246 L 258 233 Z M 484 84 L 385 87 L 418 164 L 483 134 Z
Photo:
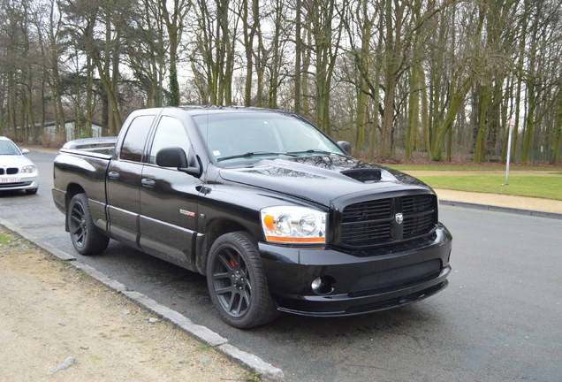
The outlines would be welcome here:
M 111 279 L 110 277 L 106 276 L 101 271 L 97 271 L 90 265 L 75 261 L 77 260 L 76 257 L 51 246 L 49 243 L 38 239 L 34 235 L 27 233 L 25 230 L 19 228 L 16 225 L 12 225 L 10 222 L 6 221 L 3 218 L 0 218 L 0 225 L 3 225 L 4 228 L 10 230 L 13 233 L 19 234 L 19 236 L 23 237 L 27 241 L 31 241 L 32 243 L 34 243 L 34 245 L 49 252 L 51 255 L 57 257 L 58 259 L 68 262 L 68 264 L 71 264 L 74 268 L 83 271 L 92 279 L 96 279 L 103 285 L 110 287 L 110 289 L 114 290 L 115 292 L 123 294 L 129 300 L 135 302 L 145 309 L 148 309 L 158 317 L 161 317 L 163 320 L 169 321 L 173 325 L 178 326 L 178 328 L 193 335 L 196 339 L 201 340 L 201 342 L 204 342 L 212 346 L 213 348 L 216 348 L 216 350 L 232 358 L 232 360 L 234 360 L 235 362 L 247 367 L 252 371 L 259 373 L 262 377 L 262 380 L 285 381 L 285 374 L 281 369 L 278 369 L 271 363 L 266 363 L 257 355 L 247 353 L 228 344 L 227 339 L 221 337 L 218 333 L 211 331 L 209 328 L 194 324 L 189 318 L 152 300 L 146 294 L 131 291 L 128 287 L 125 287 L 124 284 L 118 282 L 117 280 Z

